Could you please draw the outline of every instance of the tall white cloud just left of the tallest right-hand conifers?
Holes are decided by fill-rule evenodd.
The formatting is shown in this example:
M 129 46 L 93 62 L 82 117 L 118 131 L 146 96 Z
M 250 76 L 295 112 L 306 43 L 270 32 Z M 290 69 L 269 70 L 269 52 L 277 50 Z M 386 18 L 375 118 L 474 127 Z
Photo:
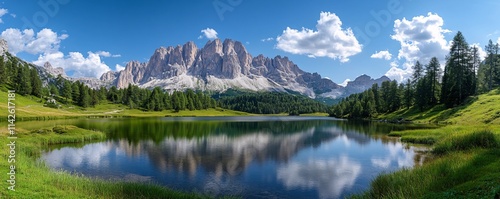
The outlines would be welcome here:
M 444 34 L 451 31 L 443 28 L 443 25 L 443 18 L 433 13 L 415 16 L 411 20 L 403 18 L 394 21 L 391 38 L 400 43 L 398 59 L 404 60 L 404 64 L 403 67 L 391 66 L 386 76 L 402 81 L 411 75 L 413 71 L 410 66 L 416 61 L 427 64 L 432 57 L 437 57 L 444 67 L 450 49 L 450 42 L 446 41 Z

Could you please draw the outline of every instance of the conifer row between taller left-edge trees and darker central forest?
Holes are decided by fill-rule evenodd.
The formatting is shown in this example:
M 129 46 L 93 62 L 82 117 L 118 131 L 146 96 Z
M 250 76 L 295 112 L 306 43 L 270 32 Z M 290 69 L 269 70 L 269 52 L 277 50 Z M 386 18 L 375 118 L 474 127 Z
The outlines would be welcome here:
M 71 82 L 60 76 L 55 85 L 51 85 L 51 87 L 54 88 L 54 93 L 60 93 L 65 102 L 73 102 L 84 108 L 94 107 L 100 101 L 105 100 L 114 104 L 126 105 L 130 109 L 145 111 L 193 111 L 215 108 L 217 105 L 216 101 L 209 95 L 191 89 L 169 93 L 160 87 L 150 90 L 132 84 L 123 89 L 118 89 L 115 86 L 109 89 L 104 86 L 92 89 L 79 81 Z

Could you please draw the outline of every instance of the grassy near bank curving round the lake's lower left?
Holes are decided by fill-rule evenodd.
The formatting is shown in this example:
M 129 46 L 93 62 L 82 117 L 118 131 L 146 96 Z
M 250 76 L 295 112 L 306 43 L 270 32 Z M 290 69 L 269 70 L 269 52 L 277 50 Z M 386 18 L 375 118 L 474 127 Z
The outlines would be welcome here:
M 56 126 L 33 131 L 18 130 L 16 140 L 16 191 L 7 189 L 4 183 L 0 198 L 208 198 L 196 193 L 170 190 L 154 184 L 110 182 L 97 178 L 73 175 L 64 171 L 53 171 L 37 159 L 44 147 L 63 143 L 85 143 L 102 140 L 105 134 L 80 129 L 75 126 Z M 5 127 L 1 145 L 9 144 Z M 0 171 L 8 173 L 9 151 L 0 151 L 6 161 L 0 162 Z

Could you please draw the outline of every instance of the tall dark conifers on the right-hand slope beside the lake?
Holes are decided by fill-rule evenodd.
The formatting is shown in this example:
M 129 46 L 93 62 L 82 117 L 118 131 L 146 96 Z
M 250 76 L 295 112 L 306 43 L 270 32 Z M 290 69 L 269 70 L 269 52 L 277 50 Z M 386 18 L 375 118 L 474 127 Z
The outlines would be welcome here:
M 411 78 L 374 84 L 370 89 L 351 95 L 329 109 L 332 117 L 369 118 L 377 114 L 416 107 L 420 111 L 437 104 L 451 108 L 468 97 L 500 86 L 498 44 L 490 40 L 482 61 L 477 46 L 469 46 L 461 32 L 453 38 L 444 71 L 433 57 L 426 65 L 417 61 Z

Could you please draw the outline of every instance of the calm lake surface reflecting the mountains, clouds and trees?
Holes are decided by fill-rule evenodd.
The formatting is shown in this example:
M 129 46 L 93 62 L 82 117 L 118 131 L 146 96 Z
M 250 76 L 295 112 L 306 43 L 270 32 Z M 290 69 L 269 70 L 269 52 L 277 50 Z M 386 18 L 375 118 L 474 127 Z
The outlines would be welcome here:
M 118 118 L 53 121 L 108 134 L 42 155 L 53 169 L 154 182 L 213 196 L 342 198 L 418 154 L 385 135 L 408 128 L 325 117 Z

